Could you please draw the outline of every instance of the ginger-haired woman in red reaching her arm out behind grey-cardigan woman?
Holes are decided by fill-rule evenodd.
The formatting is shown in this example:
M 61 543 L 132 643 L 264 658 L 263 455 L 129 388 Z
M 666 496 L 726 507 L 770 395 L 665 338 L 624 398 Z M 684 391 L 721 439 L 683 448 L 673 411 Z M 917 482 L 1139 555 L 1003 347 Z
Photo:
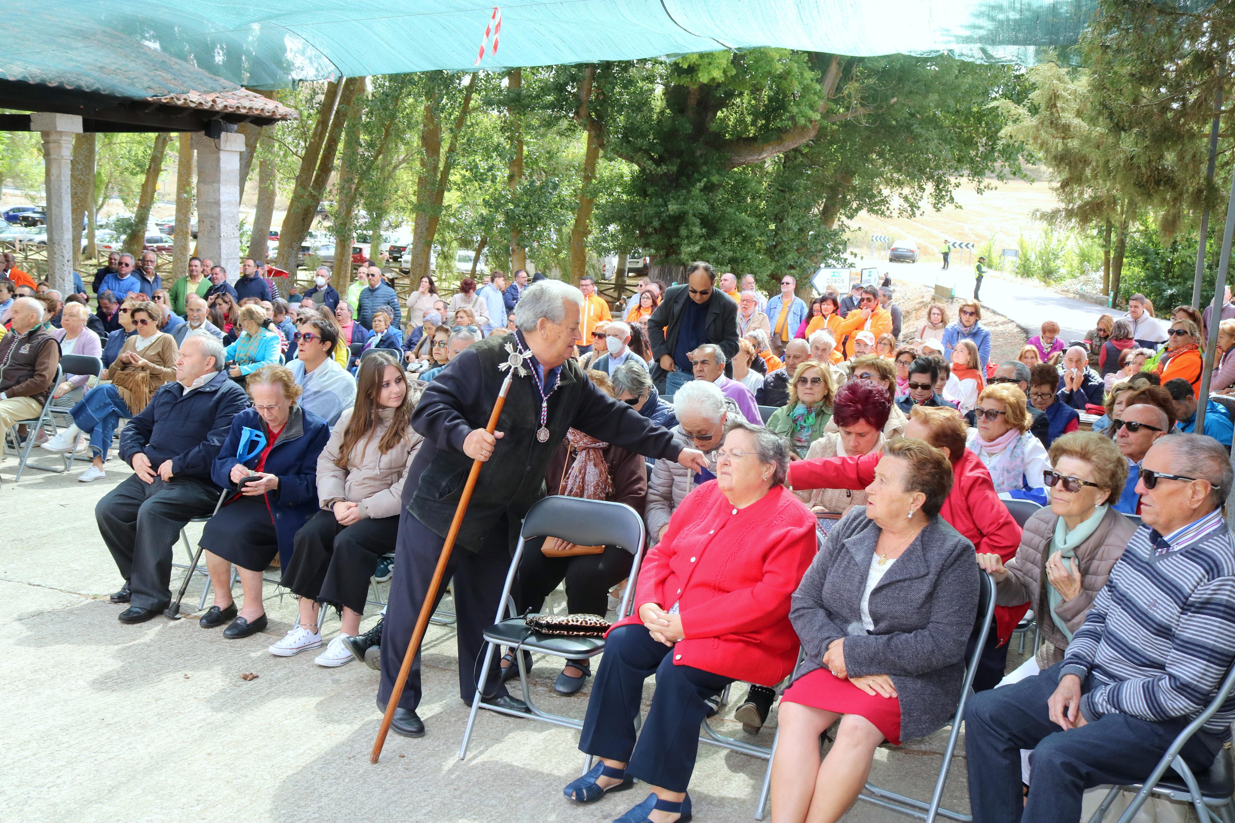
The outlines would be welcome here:
M 926 440 L 942 449 L 952 461 L 952 491 L 940 516 L 963 534 L 978 554 L 998 554 L 1008 563 L 1020 548 L 1020 527 L 999 500 L 990 473 L 978 457 L 965 448 L 965 420 L 952 408 L 914 406 L 904 437 Z M 789 486 L 803 489 L 866 489 L 874 480 L 882 452 L 858 458 L 798 460 L 789 468 Z M 1029 603 L 995 606 L 995 632 L 987 640 L 973 677 L 973 690 L 994 689 L 1008 666 L 1008 640 Z M 972 642 L 972 639 L 971 639 Z M 966 651 L 968 658 L 968 651 Z

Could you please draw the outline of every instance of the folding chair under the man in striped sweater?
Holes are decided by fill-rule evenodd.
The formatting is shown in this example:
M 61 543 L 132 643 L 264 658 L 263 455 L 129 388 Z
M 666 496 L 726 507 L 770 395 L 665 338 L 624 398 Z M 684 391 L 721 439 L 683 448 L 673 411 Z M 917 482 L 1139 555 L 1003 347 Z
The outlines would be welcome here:
M 1221 687 L 1219 687 L 1214 698 L 1209 701 L 1205 711 L 1198 714 L 1197 719 L 1192 721 L 1192 723 L 1188 723 L 1187 728 L 1174 738 L 1171 748 L 1166 750 L 1166 754 L 1158 760 L 1153 771 L 1150 772 L 1149 780 L 1144 784 L 1130 786 L 1112 786 L 1110 791 L 1107 792 L 1107 797 L 1103 798 L 1102 806 L 1089 818 L 1089 823 L 1102 823 L 1103 817 L 1107 814 L 1110 804 L 1115 802 L 1119 793 L 1130 790 L 1139 791 L 1132 802 L 1124 809 L 1124 813 L 1120 814 L 1119 823 L 1131 823 L 1132 818 L 1136 817 L 1136 812 L 1149 800 L 1150 793 L 1192 803 L 1192 807 L 1197 809 L 1197 818 L 1200 823 L 1215 823 L 1215 821 L 1231 823 L 1235 821 L 1235 801 L 1231 800 L 1231 795 L 1235 793 L 1235 777 L 1231 774 L 1230 748 L 1223 746 L 1214 759 L 1214 765 L 1202 772 L 1193 772 L 1188 767 L 1188 764 L 1183 761 L 1183 758 L 1179 756 L 1179 750 L 1183 749 L 1192 735 L 1199 732 L 1205 722 L 1214 716 L 1214 712 L 1226 702 L 1233 687 L 1235 687 L 1235 666 L 1226 672 Z M 1167 769 L 1173 769 L 1176 774 L 1168 775 Z M 1216 811 L 1216 816 L 1212 809 Z

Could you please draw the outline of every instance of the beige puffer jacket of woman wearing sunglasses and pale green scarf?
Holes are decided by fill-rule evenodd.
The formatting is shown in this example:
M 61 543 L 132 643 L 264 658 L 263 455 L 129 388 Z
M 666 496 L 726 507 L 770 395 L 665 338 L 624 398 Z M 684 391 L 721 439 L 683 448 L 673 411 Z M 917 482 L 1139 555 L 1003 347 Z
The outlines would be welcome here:
M 1042 669 L 1061 661 L 1068 645 L 1067 637 L 1047 613 L 1049 601 L 1045 593 L 1050 585 L 1046 582 L 1046 559 L 1058 519 L 1058 515 L 1045 507 L 1034 512 L 1025 522 L 1020 548 L 1008 563 L 1008 576 L 999 584 L 997 596 L 1000 606 L 1032 603 L 1030 608 L 1039 616 L 1037 626 L 1046 640 L 1037 651 L 1037 665 Z M 1107 585 L 1112 568 L 1123 556 L 1134 532 L 1136 526 L 1132 521 L 1109 508 L 1089 539 L 1076 548 L 1076 558 L 1081 564 L 1081 593 L 1061 602 L 1055 610 L 1070 632 L 1076 632 L 1084 623 L 1094 597 Z

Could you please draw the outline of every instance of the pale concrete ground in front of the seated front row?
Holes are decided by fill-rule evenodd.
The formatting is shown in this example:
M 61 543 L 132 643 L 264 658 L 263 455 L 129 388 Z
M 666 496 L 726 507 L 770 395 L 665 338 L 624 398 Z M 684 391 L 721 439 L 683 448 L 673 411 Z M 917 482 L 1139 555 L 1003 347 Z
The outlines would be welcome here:
M 324 669 L 310 653 L 268 654 L 266 647 L 295 619 L 293 598 L 273 585 L 266 587 L 270 626 L 261 637 L 225 640 L 220 629 L 198 626 L 191 612 L 204 577 L 185 597 L 190 619 L 119 623 L 122 607 L 106 596 L 121 579 L 95 527 L 94 506 L 130 471 L 114 458 L 105 480 L 80 484 L 84 466 L 75 464 L 69 475 L 27 471 L 14 484 L 16 460 L 0 464 L 5 819 L 299 822 L 398 814 L 582 823 L 610 821 L 643 797 L 636 788 L 595 806 L 569 803 L 561 792 L 583 765 L 577 732 L 492 712 L 480 712 L 461 761 L 467 706 L 458 698 L 457 655 L 445 627 L 431 627 L 425 647 L 427 735 L 391 734 L 380 763 L 371 765 L 380 721 L 378 674 L 356 663 Z M 199 529 L 190 526 L 191 540 Z M 182 554 L 178 547 L 177 561 Z M 183 574 L 173 571 L 173 589 Z M 327 632 L 337 631 L 331 617 Z M 559 665 L 536 661 L 535 696 L 550 711 L 582 717 L 588 690 L 576 697 L 552 692 Z M 257 676 L 245 680 L 245 674 Z M 726 717 L 745 695 L 741 687 L 735 692 Z M 776 712 L 760 744 L 772 744 L 774 723 Z M 731 719 L 716 726 L 751 739 Z M 929 797 L 945 744 L 946 730 L 879 750 L 872 781 Z M 700 746 L 690 787 L 697 819 L 753 819 L 763 769 L 763 760 Z M 946 806 L 967 811 L 966 791 L 962 744 Z M 909 818 L 865 802 L 845 817 L 897 819 Z

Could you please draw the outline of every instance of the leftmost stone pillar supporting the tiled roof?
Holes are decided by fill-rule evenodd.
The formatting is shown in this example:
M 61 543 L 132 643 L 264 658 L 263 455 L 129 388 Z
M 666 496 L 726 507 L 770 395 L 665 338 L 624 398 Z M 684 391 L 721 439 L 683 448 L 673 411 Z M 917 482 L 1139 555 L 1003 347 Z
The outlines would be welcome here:
M 47 192 L 47 281 L 62 295 L 73 292 L 73 136 L 82 133 L 79 115 L 40 111 L 30 128 L 43 134 Z

